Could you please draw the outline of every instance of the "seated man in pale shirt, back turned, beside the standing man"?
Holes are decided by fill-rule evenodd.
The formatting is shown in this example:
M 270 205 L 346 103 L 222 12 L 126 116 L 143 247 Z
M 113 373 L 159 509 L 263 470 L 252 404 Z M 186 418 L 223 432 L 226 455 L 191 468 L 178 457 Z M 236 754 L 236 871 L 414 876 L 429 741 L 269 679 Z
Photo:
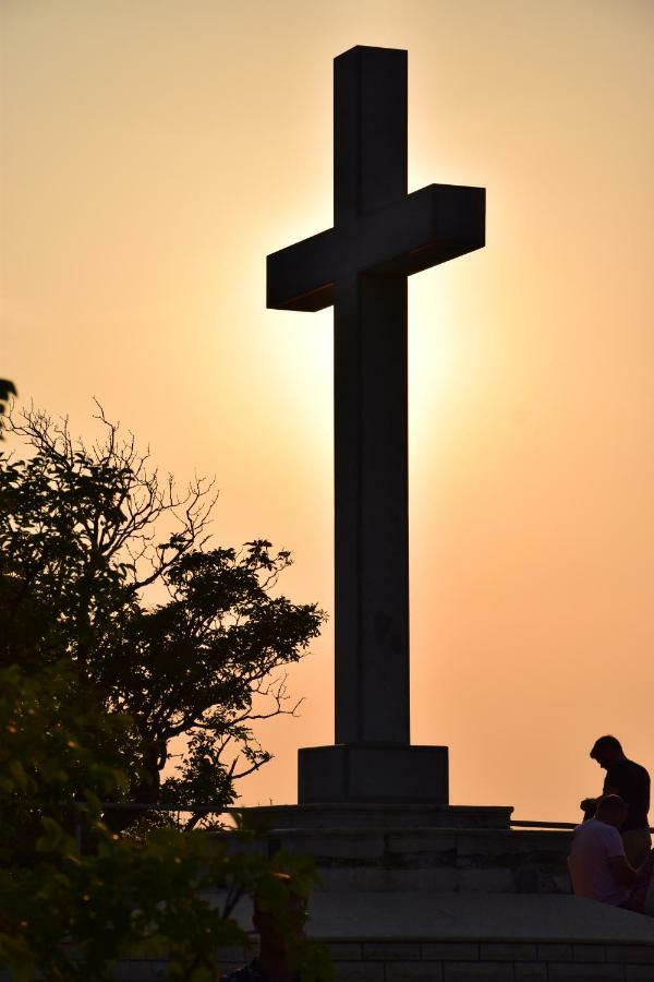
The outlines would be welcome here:
M 595 817 L 574 829 L 568 866 L 578 897 L 616 906 L 627 901 L 635 878 L 619 831 L 627 811 L 617 794 L 609 794 L 600 801 Z

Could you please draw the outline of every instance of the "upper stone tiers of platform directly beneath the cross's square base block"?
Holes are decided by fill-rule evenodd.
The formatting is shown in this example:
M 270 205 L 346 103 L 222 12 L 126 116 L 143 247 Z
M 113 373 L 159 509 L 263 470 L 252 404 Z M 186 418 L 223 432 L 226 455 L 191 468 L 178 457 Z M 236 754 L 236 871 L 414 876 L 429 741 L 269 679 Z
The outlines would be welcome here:
M 249 849 L 313 857 L 327 893 L 569 894 L 570 831 L 513 830 L 511 809 L 271 805 L 247 809 Z M 229 842 L 226 834 L 219 834 Z M 239 840 L 233 848 L 240 849 Z

